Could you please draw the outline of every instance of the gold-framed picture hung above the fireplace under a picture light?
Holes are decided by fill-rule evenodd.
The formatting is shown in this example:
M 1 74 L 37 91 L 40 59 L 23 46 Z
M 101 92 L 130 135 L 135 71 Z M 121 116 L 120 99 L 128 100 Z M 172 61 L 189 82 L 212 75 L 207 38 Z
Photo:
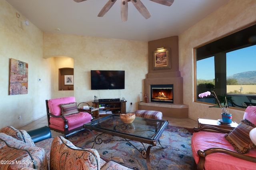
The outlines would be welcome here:
M 171 57 L 170 57 L 170 49 L 163 48 L 154 51 L 153 53 L 154 58 L 154 70 L 159 69 L 170 69 L 171 68 Z

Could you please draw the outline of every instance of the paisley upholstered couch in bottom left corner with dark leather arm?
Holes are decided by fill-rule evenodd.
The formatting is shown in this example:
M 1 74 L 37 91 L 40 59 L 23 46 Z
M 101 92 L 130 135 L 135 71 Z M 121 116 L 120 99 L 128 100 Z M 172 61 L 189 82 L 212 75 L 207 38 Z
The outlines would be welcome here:
M 48 170 L 53 140 L 50 129 L 42 127 L 32 132 L 35 134 L 32 136 L 34 141 L 25 130 L 14 127 L 0 129 L 0 169 Z

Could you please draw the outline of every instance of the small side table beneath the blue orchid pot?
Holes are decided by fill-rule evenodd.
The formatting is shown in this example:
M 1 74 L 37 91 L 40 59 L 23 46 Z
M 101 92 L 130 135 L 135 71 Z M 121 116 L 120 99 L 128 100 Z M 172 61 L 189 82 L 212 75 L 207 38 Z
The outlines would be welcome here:
M 208 126 L 218 127 L 221 129 L 233 130 L 234 128 L 236 128 L 238 126 L 238 124 L 235 121 L 233 121 L 230 124 L 222 124 L 218 120 L 212 120 L 212 119 L 198 118 L 197 121 L 198 121 L 198 128 L 208 125 Z

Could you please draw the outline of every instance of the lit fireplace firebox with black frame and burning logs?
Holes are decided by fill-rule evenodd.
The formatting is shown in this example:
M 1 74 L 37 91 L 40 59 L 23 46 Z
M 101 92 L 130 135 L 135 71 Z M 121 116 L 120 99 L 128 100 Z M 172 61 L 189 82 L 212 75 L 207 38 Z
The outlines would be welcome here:
M 150 85 L 151 101 L 173 103 L 173 85 Z

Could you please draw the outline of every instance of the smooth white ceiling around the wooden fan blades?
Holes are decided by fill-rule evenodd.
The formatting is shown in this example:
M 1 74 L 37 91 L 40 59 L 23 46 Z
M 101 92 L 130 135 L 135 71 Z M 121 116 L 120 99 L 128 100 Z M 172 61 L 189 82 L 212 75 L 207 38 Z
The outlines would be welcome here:
M 179 36 L 229 0 L 174 0 L 172 6 L 141 0 L 152 15 L 147 20 L 128 2 L 126 22 L 121 22 L 120 0 L 103 17 L 97 15 L 108 0 L 6 1 L 43 32 L 148 42 Z

